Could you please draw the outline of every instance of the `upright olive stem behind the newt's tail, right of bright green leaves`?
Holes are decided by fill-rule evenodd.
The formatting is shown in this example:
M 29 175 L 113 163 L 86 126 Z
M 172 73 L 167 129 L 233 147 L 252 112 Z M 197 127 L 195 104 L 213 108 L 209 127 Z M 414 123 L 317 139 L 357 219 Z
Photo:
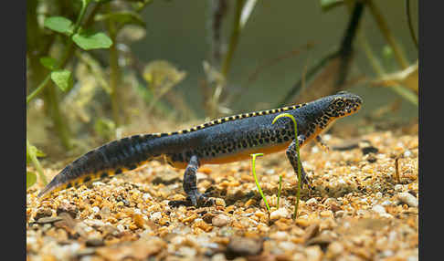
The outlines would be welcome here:
M 108 8 L 111 11 L 111 4 L 108 5 Z M 116 126 L 119 127 L 122 124 L 119 111 L 119 104 L 121 103 L 118 89 L 121 81 L 121 71 L 119 68 L 119 52 L 116 47 L 117 29 L 112 19 L 108 19 L 108 31 L 112 40 L 112 45 L 110 47 L 110 87 L 112 119 L 116 123 Z

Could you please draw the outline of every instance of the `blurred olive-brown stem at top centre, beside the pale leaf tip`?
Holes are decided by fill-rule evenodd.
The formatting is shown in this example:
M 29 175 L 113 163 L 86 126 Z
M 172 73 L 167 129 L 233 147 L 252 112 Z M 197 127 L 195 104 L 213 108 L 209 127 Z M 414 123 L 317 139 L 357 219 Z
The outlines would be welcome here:
M 221 73 L 224 78 L 227 78 L 227 74 L 231 65 L 231 60 L 233 58 L 236 47 L 238 47 L 239 35 L 240 35 L 240 15 L 242 14 L 242 7 L 244 6 L 245 0 L 236 1 L 236 10 L 233 20 L 233 27 L 231 28 L 231 36 L 229 37 L 228 51 L 224 58 L 221 67 Z

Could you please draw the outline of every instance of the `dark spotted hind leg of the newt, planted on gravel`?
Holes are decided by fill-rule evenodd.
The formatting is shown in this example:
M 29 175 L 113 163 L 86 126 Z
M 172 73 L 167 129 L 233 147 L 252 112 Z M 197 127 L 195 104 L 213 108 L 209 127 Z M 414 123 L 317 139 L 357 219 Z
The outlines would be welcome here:
M 212 199 L 209 199 L 205 193 L 199 193 L 199 191 L 197 190 L 196 172 L 199 166 L 200 163 L 197 159 L 197 156 L 191 156 L 184 173 L 183 187 L 186 193 L 186 200 L 170 201 L 170 206 L 209 206 L 214 204 L 214 201 Z

